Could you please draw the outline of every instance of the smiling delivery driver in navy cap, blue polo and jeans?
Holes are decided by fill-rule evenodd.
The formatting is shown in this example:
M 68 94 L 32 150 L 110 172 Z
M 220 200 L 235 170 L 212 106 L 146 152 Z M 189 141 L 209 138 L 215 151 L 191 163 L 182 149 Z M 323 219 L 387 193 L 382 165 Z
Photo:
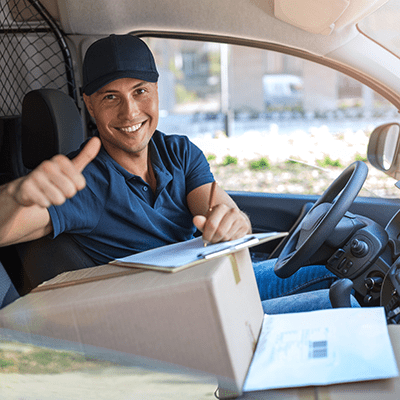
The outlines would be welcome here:
M 157 80 L 151 51 L 135 36 L 110 35 L 89 47 L 83 99 L 98 137 L 1 187 L 0 245 L 68 232 L 104 264 L 191 239 L 196 228 L 211 243 L 251 232 L 249 218 L 218 186 L 209 210 L 214 178 L 203 153 L 186 136 L 157 130 Z M 335 279 L 323 266 L 288 280 L 275 276 L 273 262 L 255 271 L 259 287 L 273 288 L 263 300 L 324 289 Z

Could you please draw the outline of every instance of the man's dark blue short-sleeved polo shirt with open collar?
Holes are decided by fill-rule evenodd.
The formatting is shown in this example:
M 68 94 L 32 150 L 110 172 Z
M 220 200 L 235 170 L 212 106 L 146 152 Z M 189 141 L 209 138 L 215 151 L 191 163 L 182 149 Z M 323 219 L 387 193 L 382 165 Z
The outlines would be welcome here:
M 53 237 L 72 234 L 97 264 L 193 238 L 186 197 L 214 180 L 210 166 L 186 136 L 155 131 L 149 146 L 156 193 L 102 147 L 83 171 L 86 187 L 64 204 L 49 207 Z

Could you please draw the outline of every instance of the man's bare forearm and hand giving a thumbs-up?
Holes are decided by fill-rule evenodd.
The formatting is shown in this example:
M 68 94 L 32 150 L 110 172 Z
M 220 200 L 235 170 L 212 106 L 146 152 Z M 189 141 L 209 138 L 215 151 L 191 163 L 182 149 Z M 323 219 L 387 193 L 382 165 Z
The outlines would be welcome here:
M 28 175 L 1 186 L 0 246 L 52 232 L 47 207 L 64 203 L 85 187 L 82 171 L 99 150 L 100 140 L 93 138 L 73 160 L 54 156 Z

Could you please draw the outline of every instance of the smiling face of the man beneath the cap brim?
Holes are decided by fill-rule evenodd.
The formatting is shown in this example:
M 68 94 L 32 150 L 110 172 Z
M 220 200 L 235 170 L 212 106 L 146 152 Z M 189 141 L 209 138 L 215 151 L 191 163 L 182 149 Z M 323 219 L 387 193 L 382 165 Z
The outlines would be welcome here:
M 83 97 L 103 146 L 117 162 L 147 149 L 158 124 L 157 83 L 122 78 Z

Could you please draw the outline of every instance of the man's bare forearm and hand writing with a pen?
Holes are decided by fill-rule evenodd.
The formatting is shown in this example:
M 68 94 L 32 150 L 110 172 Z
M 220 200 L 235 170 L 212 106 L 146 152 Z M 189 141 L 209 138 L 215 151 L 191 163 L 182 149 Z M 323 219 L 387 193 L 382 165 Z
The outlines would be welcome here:
M 193 223 L 210 243 L 239 239 L 251 233 L 251 223 L 245 213 L 220 187 L 216 187 L 214 204 L 209 210 L 211 183 L 192 190 L 187 196 Z

